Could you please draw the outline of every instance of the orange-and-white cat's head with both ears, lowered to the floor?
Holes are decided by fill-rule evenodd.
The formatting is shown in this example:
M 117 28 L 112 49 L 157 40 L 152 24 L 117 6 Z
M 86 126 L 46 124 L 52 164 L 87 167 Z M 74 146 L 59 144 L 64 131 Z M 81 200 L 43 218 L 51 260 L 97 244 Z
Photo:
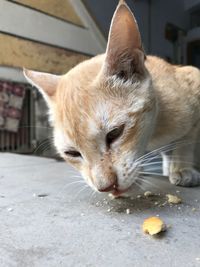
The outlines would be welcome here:
M 104 55 L 63 76 L 24 71 L 47 101 L 60 155 L 100 192 L 120 194 L 138 176 L 156 117 L 145 59 L 135 18 L 121 1 Z

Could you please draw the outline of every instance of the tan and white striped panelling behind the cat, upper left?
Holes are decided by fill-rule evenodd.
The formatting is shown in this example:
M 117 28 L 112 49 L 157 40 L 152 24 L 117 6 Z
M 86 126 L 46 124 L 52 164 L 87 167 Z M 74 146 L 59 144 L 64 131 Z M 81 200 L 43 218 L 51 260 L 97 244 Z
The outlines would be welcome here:
M 89 58 L 92 42 L 69 0 L 0 0 L 0 72 L 64 74 Z

